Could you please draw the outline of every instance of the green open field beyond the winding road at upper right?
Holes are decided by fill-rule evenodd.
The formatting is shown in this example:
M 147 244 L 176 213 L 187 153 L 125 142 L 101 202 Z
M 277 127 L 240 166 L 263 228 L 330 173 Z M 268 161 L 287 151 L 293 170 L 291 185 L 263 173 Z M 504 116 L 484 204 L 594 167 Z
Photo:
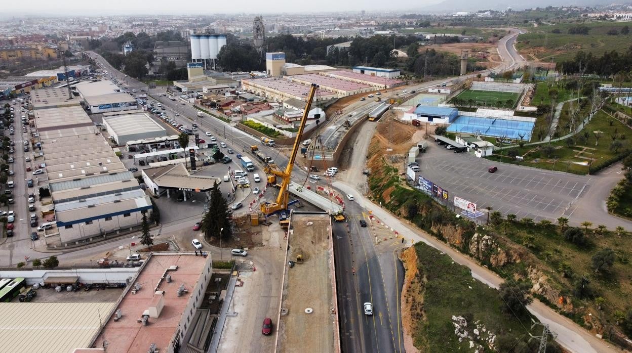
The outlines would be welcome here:
M 568 34 L 571 27 L 585 26 L 590 28 L 588 35 Z M 516 48 L 520 51 L 538 49 L 535 54 L 538 59 L 554 57 L 556 61 L 568 60 L 575 56 L 577 51 L 592 52 L 595 56 L 601 56 L 607 51 L 624 52 L 629 48 L 632 35 L 607 35 L 611 29 L 621 30 L 629 23 L 624 22 L 593 22 L 593 23 L 564 23 L 561 25 L 543 25 L 532 28 L 529 33 L 518 36 Z M 561 33 L 552 33 L 553 30 Z

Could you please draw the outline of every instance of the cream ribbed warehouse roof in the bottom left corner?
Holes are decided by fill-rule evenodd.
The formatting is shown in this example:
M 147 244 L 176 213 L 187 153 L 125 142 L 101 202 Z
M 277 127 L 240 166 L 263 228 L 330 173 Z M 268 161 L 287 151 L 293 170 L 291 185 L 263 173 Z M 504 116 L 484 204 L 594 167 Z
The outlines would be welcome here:
M 0 303 L 4 352 L 71 352 L 90 347 L 114 302 Z

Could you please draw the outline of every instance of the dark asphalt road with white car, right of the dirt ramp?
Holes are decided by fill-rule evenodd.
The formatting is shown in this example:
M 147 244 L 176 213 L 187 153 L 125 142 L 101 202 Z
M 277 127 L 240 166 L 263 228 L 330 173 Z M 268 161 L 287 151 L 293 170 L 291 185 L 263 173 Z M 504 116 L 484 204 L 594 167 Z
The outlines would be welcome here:
M 346 213 L 347 222 L 333 227 L 342 350 L 404 352 L 399 316 L 403 267 L 392 248 L 375 246 L 362 207 L 348 202 Z M 360 218 L 369 226 L 360 227 Z M 364 314 L 364 302 L 373 304 L 373 315 Z

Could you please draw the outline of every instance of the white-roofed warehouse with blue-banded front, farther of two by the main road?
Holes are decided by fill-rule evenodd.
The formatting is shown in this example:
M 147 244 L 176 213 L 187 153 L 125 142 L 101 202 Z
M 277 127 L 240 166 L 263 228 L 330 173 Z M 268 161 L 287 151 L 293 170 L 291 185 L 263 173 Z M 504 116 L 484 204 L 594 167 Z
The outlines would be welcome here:
M 82 82 L 75 87 L 92 114 L 138 109 L 137 100 L 110 81 Z

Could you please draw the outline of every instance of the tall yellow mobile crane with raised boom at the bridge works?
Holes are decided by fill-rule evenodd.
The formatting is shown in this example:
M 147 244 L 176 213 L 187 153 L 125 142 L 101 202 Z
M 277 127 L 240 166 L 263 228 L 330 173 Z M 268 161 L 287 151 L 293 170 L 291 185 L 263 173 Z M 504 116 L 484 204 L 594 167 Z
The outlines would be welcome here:
M 303 140 L 303 129 L 305 129 L 305 123 L 307 123 L 307 116 L 310 114 L 310 109 L 312 107 L 312 100 L 314 98 L 314 94 L 318 85 L 312 83 L 312 88 L 310 88 L 310 93 L 307 97 L 307 105 L 305 105 L 305 111 L 303 111 L 303 117 L 301 118 L 301 125 L 298 127 L 298 133 L 296 133 L 296 140 L 294 141 L 294 147 L 292 148 L 292 153 L 289 155 L 288 166 L 285 167 L 285 171 L 280 171 L 276 164 L 268 164 L 265 166 L 264 171 L 266 174 L 272 174 L 268 178 L 268 182 L 270 184 L 274 184 L 276 182 L 276 178 L 281 179 L 279 194 L 277 195 L 276 202 L 274 203 L 261 203 L 261 212 L 265 215 L 270 215 L 271 213 L 285 210 L 288 208 L 288 186 L 292 176 L 292 168 L 294 167 L 294 161 L 296 159 L 296 153 L 298 153 L 298 149 L 300 148 L 301 140 Z

